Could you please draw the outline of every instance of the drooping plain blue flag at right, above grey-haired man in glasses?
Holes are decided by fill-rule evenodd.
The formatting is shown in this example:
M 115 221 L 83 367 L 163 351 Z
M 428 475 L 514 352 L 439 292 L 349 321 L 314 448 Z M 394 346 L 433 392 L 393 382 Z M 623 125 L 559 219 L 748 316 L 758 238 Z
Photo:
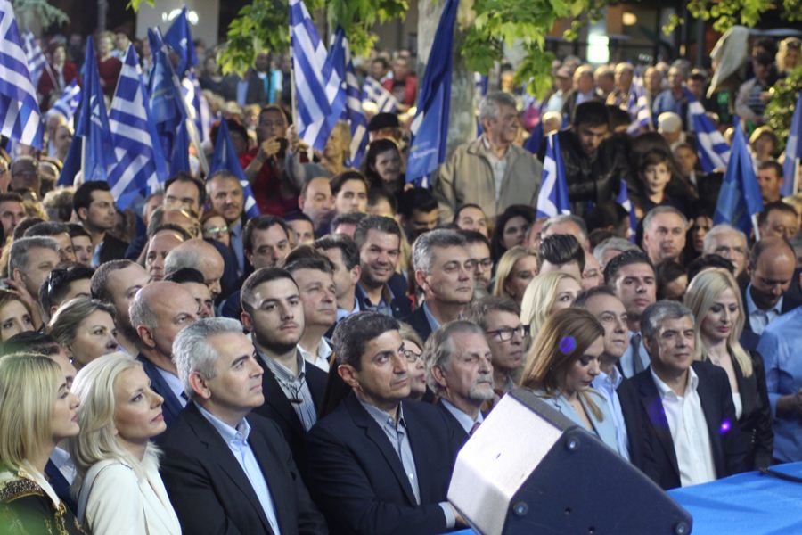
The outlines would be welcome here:
M 732 121 L 735 125 L 732 154 L 718 193 L 713 224 L 729 223 L 745 235 L 749 235 L 749 229 L 754 227 L 757 235 L 755 217 L 763 211 L 763 196 L 757 184 L 746 136 L 741 129 L 741 120 L 733 117 Z

